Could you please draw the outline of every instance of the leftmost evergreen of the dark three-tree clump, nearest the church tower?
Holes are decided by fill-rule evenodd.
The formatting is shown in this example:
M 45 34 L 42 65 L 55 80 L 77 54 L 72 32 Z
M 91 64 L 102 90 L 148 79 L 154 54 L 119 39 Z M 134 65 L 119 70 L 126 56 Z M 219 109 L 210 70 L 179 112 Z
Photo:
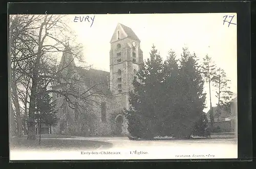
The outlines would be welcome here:
M 163 83 L 162 58 L 152 46 L 150 58 L 142 63 L 138 81 L 134 81 L 134 92 L 130 94 L 131 108 L 128 112 L 129 131 L 140 125 L 141 137 L 153 138 L 158 133 L 158 119 L 161 108 L 161 83 Z M 132 135 L 138 135 L 131 132 Z

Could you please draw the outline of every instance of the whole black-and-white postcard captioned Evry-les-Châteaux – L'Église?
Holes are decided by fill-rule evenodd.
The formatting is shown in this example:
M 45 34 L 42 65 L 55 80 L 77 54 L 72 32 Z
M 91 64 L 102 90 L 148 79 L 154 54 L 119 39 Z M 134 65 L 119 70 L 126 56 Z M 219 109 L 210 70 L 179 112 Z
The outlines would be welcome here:
M 10 160 L 238 158 L 237 14 L 9 16 Z

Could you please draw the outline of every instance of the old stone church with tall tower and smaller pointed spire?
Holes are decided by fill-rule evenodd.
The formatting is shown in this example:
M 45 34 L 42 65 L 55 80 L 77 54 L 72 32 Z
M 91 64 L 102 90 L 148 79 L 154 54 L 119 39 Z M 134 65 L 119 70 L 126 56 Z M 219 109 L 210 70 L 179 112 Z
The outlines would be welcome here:
M 67 43 L 58 66 L 61 80 L 52 86 L 59 91 L 53 95 L 59 120 L 51 133 L 129 135 L 123 109 L 130 107 L 129 92 L 143 60 L 140 39 L 117 24 L 110 41 L 110 72 L 77 67 L 70 50 Z

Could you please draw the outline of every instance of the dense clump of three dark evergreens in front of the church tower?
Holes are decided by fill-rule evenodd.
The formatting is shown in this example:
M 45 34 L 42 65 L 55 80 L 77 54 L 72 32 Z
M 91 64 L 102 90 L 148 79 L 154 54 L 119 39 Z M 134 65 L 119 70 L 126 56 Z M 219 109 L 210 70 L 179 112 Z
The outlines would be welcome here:
M 137 74 L 138 81 L 133 82 L 127 111 L 129 131 L 140 138 L 188 137 L 205 106 L 204 81 L 196 55 L 184 48 L 179 67 L 173 51 L 164 63 L 155 46 L 150 54 Z

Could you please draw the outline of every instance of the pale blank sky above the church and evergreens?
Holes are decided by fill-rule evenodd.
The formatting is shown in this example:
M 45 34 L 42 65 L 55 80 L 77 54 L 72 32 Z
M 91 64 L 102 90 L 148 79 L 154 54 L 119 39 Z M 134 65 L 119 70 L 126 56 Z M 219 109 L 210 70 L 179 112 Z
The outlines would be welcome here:
M 90 22 L 84 21 L 87 16 Z M 237 93 L 237 25 L 232 24 L 237 23 L 236 13 L 77 14 L 66 17 L 67 25 L 77 35 L 77 43 L 83 45 L 84 61 L 96 69 L 110 71 L 110 40 L 117 24 L 122 23 L 141 40 L 143 59 L 150 56 L 153 44 L 163 59 L 170 49 L 179 58 L 182 47 L 188 47 L 201 60 L 208 54 L 218 67 L 225 70 L 231 80 L 230 90 Z M 209 110 L 208 90 L 205 85 L 205 112 Z M 214 89 L 212 93 L 212 105 L 215 106 L 218 99 Z

